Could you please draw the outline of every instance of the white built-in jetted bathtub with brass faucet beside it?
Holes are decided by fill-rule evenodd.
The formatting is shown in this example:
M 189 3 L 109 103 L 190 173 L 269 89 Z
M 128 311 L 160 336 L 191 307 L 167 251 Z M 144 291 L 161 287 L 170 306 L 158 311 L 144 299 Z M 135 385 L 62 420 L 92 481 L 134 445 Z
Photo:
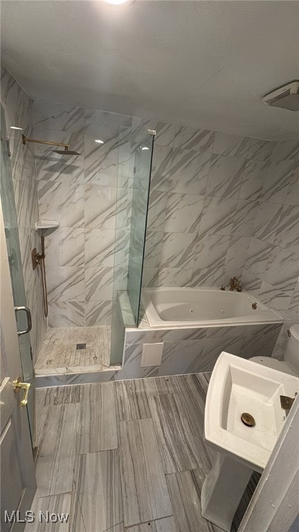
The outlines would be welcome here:
M 150 327 L 234 326 L 281 323 L 280 314 L 246 292 L 219 287 L 144 288 L 141 301 Z M 256 303 L 256 310 L 252 305 Z

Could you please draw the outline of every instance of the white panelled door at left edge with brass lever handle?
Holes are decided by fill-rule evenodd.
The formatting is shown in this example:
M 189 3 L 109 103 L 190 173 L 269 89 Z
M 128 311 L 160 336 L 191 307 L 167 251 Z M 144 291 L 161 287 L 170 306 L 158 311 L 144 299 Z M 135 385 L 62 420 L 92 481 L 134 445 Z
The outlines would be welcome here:
M 36 490 L 33 449 L 28 414 L 21 401 L 23 382 L 3 214 L 0 204 L 0 290 L 1 290 L 1 532 L 23 531 L 24 512 L 30 510 Z

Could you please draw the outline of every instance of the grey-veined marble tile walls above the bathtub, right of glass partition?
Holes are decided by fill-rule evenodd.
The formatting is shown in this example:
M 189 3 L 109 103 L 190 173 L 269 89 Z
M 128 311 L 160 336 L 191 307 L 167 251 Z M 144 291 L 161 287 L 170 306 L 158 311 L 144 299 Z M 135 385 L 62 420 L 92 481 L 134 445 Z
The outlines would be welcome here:
M 231 275 L 298 320 L 298 141 L 160 124 L 145 256 L 147 286 L 228 285 Z

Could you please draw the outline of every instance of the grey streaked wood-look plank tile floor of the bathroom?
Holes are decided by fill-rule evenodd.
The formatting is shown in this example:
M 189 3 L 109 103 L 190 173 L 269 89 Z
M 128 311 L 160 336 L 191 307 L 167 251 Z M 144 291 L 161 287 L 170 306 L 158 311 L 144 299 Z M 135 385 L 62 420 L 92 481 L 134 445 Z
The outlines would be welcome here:
M 37 389 L 33 510 L 70 519 L 26 532 L 220 532 L 200 504 L 214 456 L 203 442 L 209 379 Z

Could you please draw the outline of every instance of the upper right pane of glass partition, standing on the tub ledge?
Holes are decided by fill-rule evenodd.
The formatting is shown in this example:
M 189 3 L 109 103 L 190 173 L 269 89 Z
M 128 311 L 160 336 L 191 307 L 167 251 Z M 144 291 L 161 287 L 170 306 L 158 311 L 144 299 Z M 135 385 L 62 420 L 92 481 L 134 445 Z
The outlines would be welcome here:
M 147 133 L 143 138 L 138 139 L 138 143 L 135 143 L 134 149 L 134 179 L 129 236 L 127 293 L 136 326 L 138 326 L 141 299 L 153 143 L 154 136 Z

